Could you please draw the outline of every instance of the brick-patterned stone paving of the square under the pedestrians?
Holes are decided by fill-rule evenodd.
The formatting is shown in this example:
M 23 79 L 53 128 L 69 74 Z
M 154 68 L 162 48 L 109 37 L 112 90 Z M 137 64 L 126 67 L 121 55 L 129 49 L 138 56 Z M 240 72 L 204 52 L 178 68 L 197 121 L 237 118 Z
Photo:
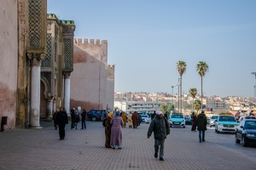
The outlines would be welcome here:
M 0 133 L 0 170 L 256 169 L 255 159 L 236 150 L 208 140 L 200 144 L 198 133 L 191 132 L 189 126 L 171 128 L 165 143 L 165 161 L 159 161 L 154 158 L 153 135 L 147 139 L 148 124 L 137 129 L 123 128 L 122 150 L 104 147 L 102 122 L 87 122 L 86 130 L 80 130 L 80 124 L 78 130 L 71 130 L 69 123 L 65 140 L 59 140 L 51 122 L 43 124 L 43 129 Z

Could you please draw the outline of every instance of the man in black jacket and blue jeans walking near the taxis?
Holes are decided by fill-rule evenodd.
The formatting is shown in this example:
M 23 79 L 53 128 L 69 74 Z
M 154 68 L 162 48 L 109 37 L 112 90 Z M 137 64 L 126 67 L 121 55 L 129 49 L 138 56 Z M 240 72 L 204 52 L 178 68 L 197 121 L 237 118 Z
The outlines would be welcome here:
M 206 141 L 205 139 L 205 132 L 207 130 L 207 116 L 205 115 L 205 111 L 201 111 L 196 117 L 196 126 L 198 130 L 199 142 Z

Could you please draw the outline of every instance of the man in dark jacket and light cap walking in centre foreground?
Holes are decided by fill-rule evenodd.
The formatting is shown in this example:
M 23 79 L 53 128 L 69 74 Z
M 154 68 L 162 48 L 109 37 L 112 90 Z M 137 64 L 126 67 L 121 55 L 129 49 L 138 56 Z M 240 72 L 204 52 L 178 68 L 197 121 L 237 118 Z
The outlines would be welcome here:
M 154 157 L 158 157 L 160 146 L 160 161 L 165 161 L 163 158 L 165 139 L 166 136 L 170 134 L 170 124 L 161 111 L 156 112 L 156 116 L 154 116 L 154 119 L 148 127 L 148 139 L 152 132 L 154 132 Z

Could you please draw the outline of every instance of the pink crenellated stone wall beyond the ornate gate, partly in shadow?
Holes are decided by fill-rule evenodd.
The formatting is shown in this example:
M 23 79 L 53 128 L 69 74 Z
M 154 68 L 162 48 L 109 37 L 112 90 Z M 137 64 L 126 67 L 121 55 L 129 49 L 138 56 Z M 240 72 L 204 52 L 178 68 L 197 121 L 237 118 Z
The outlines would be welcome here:
M 81 39 L 73 48 L 70 108 L 106 110 L 107 108 L 107 41 Z

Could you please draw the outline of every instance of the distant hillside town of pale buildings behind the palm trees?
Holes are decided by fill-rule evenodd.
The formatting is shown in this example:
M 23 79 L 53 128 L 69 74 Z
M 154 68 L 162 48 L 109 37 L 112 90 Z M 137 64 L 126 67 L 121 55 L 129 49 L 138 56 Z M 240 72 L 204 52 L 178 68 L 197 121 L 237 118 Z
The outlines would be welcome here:
M 201 99 L 201 95 L 196 95 L 193 99 L 190 94 L 182 94 L 182 108 L 181 111 L 185 115 L 190 115 L 192 111 L 193 101 Z M 146 112 L 152 113 L 153 111 L 160 110 L 161 105 L 173 105 L 171 111 L 178 111 L 178 95 L 167 93 L 114 93 L 114 108 L 125 112 Z M 256 107 L 254 98 L 245 98 L 238 96 L 218 97 L 203 96 L 202 109 L 207 114 L 218 115 L 223 112 L 230 112 L 234 116 L 248 115 L 254 111 Z

